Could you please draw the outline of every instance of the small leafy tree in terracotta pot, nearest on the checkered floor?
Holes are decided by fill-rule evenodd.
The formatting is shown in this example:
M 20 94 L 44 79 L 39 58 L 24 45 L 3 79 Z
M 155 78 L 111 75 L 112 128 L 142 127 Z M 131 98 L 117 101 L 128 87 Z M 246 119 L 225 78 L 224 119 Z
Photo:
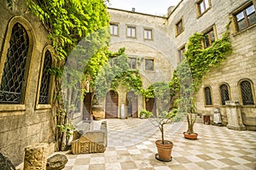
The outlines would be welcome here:
M 182 115 L 177 112 L 177 109 L 172 111 L 162 111 L 157 117 L 150 117 L 149 120 L 154 126 L 159 127 L 161 139 L 155 141 L 158 153 L 155 158 L 159 161 L 172 161 L 172 141 L 164 138 L 164 125 L 172 122 L 177 122 L 182 119 Z

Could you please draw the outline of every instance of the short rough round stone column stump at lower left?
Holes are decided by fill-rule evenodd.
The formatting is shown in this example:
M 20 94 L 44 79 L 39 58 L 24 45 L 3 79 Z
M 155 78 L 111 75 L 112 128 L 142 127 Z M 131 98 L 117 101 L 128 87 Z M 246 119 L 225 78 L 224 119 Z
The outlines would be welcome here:
M 25 148 L 24 170 L 46 170 L 48 144 L 40 143 Z

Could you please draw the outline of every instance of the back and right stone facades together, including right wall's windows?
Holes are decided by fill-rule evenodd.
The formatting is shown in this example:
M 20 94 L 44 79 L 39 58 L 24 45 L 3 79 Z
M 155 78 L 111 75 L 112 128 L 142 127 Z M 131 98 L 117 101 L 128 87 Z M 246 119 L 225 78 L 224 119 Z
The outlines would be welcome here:
M 202 42 L 202 48 L 207 48 L 221 38 L 225 26 L 231 21 L 233 52 L 203 78 L 201 88 L 195 92 L 196 106 L 199 112 L 210 115 L 211 119 L 214 109 L 218 109 L 221 122 L 227 125 L 228 106 L 225 101 L 234 101 L 238 109 L 236 116 L 241 116 L 242 126 L 255 130 L 255 8 L 255 0 L 182 0 L 175 8 L 169 8 L 166 18 L 109 8 L 112 33 L 110 49 L 125 47 L 126 54 L 131 57 L 144 56 L 146 59 L 152 56 L 155 65 L 158 65 L 155 71 L 159 69 L 165 81 L 168 81 L 173 69 L 184 59 L 183 52 L 190 36 L 195 32 L 203 33 L 206 39 Z M 153 32 L 150 41 L 147 39 L 148 30 L 149 33 Z M 146 75 L 142 68 L 139 67 L 141 74 L 150 83 L 158 81 L 159 77 L 155 79 L 156 74 L 148 72 Z M 148 86 L 147 81 L 143 80 L 143 83 L 145 87 Z M 120 100 L 124 100 L 125 94 L 119 93 L 123 96 Z M 143 99 L 141 103 L 145 107 Z

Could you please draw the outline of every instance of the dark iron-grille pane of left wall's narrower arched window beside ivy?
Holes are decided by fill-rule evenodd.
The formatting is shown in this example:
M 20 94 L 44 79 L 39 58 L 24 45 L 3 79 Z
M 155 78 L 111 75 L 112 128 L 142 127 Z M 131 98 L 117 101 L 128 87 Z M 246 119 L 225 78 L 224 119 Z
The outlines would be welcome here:
M 39 104 L 49 103 L 49 69 L 51 68 L 52 60 L 49 50 L 44 55 L 44 67 L 40 86 Z

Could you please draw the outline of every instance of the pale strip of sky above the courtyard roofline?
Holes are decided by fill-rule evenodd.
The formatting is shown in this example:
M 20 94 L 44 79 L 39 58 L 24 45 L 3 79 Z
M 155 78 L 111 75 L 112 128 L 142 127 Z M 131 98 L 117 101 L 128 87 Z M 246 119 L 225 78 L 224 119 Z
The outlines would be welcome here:
M 180 0 L 109 0 L 108 7 L 131 10 L 145 14 L 167 14 L 167 8 L 176 6 Z

